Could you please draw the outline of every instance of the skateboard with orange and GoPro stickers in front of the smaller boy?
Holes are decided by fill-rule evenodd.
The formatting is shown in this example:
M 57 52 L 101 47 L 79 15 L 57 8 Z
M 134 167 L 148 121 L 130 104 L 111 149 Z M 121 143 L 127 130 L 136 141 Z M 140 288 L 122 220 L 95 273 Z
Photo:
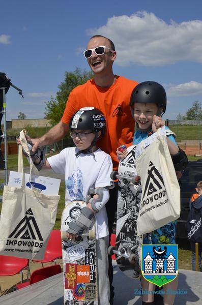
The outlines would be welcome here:
M 61 220 L 65 305 L 98 305 L 95 228 L 76 240 L 67 239 L 68 223 L 75 221 L 84 201 L 71 201 Z

